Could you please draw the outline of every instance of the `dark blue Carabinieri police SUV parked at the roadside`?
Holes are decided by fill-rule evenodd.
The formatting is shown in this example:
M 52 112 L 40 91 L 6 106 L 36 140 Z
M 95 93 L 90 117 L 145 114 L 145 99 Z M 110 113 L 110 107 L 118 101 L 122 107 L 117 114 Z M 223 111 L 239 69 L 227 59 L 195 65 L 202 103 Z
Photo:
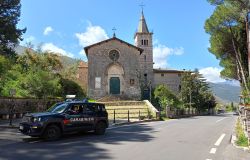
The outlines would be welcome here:
M 94 131 L 103 135 L 108 126 L 104 104 L 70 101 L 57 103 L 46 112 L 25 115 L 19 131 L 32 137 L 57 140 L 65 133 L 78 131 Z

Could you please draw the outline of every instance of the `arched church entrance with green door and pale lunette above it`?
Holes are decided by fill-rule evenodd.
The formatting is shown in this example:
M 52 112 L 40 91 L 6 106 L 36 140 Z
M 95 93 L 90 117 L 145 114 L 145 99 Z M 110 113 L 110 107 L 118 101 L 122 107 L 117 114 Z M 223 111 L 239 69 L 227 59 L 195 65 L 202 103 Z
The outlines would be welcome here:
M 112 64 L 108 67 L 108 92 L 109 94 L 121 94 L 124 84 L 124 70 L 120 64 Z

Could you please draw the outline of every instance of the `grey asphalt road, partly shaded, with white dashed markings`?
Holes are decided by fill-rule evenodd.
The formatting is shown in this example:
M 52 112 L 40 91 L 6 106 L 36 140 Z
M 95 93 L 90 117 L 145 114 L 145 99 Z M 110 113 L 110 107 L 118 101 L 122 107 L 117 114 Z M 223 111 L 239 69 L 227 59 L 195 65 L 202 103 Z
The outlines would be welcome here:
M 198 116 L 117 126 L 103 136 L 74 134 L 56 142 L 1 128 L 0 159 L 249 160 L 250 153 L 230 144 L 236 118 Z

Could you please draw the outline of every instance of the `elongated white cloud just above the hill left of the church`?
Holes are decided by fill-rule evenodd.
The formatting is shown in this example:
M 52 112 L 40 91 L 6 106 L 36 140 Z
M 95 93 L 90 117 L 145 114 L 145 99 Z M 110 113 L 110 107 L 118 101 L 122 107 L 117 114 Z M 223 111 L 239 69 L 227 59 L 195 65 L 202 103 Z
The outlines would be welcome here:
M 53 43 L 45 43 L 41 46 L 42 51 L 54 52 L 68 57 L 74 57 L 72 53 L 66 52 L 62 48 L 57 47 Z

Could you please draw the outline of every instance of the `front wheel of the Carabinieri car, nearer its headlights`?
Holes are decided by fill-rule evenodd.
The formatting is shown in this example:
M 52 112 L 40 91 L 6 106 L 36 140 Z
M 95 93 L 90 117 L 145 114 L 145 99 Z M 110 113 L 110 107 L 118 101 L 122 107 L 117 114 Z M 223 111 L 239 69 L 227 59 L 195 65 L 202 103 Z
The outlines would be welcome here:
M 56 125 L 51 125 L 45 129 L 43 138 L 47 141 L 54 141 L 58 140 L 61 137 L 61 135 L 62 135 L 61 129 Z

